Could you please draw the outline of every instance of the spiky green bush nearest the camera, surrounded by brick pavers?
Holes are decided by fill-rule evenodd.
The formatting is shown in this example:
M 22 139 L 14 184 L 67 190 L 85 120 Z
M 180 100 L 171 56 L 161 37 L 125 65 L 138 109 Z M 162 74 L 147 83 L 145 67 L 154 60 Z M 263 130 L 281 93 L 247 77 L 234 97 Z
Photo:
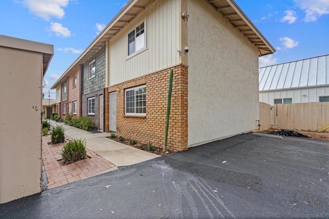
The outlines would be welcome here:
M 74 139 L 64 145 L 62 151 L 62 162 L 64 165 L 71 164 L 87 158 L 86 142 L 81 139 Z

